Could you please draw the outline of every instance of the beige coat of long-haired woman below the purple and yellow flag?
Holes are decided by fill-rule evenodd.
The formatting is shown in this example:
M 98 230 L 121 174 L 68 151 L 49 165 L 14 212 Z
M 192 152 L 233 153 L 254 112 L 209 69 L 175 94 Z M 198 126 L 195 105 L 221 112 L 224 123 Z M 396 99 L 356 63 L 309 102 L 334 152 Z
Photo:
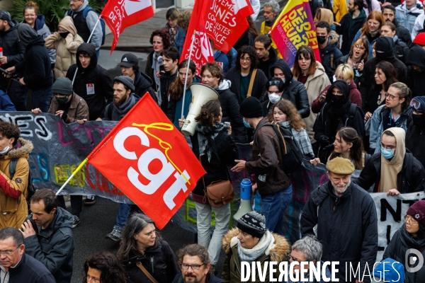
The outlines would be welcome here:
M 297 79 L 296 76 L 294 76 L 294 79 Z M 305 125 L 307 126 L 307 133 L 308 137 L 310 137 L 310 141 L 312 144 L 316 142 L 316 140 L 313 138 L 314 132 L 313 132 L 313 125 L 316 121 L 317 114 L 314 114 L 312 112 L 312 104 L 314 99 L 319 96 L 319 93 L 323 91 L 324 88 L 329 86 L 331 82 L 329 81 L 329 78 L 327 74 L 324 71 L 324 67 L 322 64 L 317 62 L 317 68 L 316 71 L 312 76 L 309 76 L 307 81 L 305 82 L 305 89 L 307 90 L 307 96 L 308 96 L 308 104 L 310 105 L 310 116 L 305 117 L 302 119 L 305 122 Z

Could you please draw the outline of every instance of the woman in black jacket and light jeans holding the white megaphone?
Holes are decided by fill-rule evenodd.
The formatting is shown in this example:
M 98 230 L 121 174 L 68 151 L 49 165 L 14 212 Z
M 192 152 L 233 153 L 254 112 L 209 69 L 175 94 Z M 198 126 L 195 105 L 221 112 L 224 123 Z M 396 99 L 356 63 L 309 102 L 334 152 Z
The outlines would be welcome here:
M 198 180 L 192 191 L 192 199 L 196 204 L 198 244 L 208 248 L 212 265 L 217 263 L 221 241 L 229 226 L 231 200 L 225 204 L 212 203 L 205 196 L 205 191 L 213 183 L 229 180 L 227 166 L 235 166 L 234 160 L 239 158 L 237 146 L 232 136 L 227 133 L 229 127 L 223 124 L 221 119 L 220 101 L 209 100 L 195 118 L 196 132 L 191 137 L 193 153 L 207 172 Z M 182 127 L 183 120 L 180 119 L 179 124 L 179 127 Z M 215 212 L 215 229 L 211 237 L 212 209 Z

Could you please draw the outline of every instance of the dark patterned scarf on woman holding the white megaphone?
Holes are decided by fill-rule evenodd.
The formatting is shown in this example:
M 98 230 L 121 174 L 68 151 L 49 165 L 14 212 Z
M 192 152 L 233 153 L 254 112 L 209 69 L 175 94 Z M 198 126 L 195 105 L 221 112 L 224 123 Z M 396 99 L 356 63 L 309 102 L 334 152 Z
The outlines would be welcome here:
M 222 122 L 216 122 L 214 126 L 208 127 L 196 124 L 196 132 L 198 132 L 198 146 L 199 146 L 199 156 L 207 155 L 208 162 L 211 162 L 211 155 L 214 154 L 220 162 L 218 157 L 217 146 L 215 144 L 215 137 L 220 132 L 227 132 L 227 127 Z M 220 163 L 215 164 L 220 166 Z

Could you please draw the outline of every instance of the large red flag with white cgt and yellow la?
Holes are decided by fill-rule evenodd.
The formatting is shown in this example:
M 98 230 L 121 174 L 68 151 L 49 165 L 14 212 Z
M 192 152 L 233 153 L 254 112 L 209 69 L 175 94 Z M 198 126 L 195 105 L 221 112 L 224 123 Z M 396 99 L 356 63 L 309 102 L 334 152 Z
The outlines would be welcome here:
M 87 157 L 164 228 L 205 174 L 183 135 L 149 93 Z

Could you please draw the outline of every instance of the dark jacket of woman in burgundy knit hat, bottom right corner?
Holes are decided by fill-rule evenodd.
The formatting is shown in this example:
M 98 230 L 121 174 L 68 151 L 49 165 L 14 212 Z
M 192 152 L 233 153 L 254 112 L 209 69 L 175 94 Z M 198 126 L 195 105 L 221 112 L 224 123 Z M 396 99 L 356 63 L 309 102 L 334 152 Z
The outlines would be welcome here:
M 400 262 L 406 266 L 406 252 L 409 248 L 419 250 L 425 246 L 425 238 L 412 237 L 406 231 L 406 225 L 403 224 L 392 236 L 390 243 L 385 248 L 384 256 L 382 260 L 386 258 L 392 258 L 393 260 Z M 425 250 L 422 251 L 422 257 L 425 258 Z M 412 267 L 415 267 L 413 265 Z M 404 282 L 405 283 L 419 283 L 424 282 L 425 279 L 425 265 L 416 272 L 407 272 L 404 270 Z M 401 282 L 402 280 L 400 280 Z

